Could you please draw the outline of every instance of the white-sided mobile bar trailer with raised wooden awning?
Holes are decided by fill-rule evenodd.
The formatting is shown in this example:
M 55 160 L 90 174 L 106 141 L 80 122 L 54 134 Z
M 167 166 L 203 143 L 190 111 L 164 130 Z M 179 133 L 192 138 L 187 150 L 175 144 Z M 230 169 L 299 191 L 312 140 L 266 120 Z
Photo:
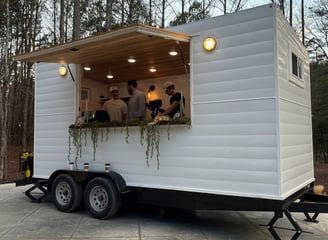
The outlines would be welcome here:
M 307 50 L 274 4 L 169 30 L 136 24 L 16 60 L 37 62 L 31 191 L 42 189 L 61 211 L 84 198 L 93 217 L 110 218 L 127 196 L 272 211 L 266 226 L 275 239 L 283 215 L 297 239 L 302 229 L 291 212 L 313 222 L 328 212 L 327 197 L 313 193 Z M 162 85 L 173 82 L 186 117 L 121 125 L 90 118 L 109 87 L 127 99 L 130 79 L 164 108 Z

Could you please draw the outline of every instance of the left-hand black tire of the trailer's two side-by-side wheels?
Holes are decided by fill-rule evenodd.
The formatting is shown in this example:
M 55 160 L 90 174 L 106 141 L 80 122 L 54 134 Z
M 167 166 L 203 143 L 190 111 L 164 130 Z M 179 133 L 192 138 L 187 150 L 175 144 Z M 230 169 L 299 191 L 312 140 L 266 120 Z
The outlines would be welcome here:
M 52 184 L 51 193 L 57 209 L 62 212 L 72 212 L 81 205 L 82 188 L 68 174 L 60 174 L 56 177 Z

